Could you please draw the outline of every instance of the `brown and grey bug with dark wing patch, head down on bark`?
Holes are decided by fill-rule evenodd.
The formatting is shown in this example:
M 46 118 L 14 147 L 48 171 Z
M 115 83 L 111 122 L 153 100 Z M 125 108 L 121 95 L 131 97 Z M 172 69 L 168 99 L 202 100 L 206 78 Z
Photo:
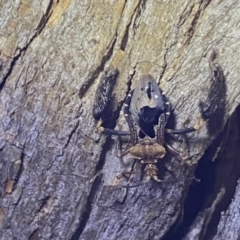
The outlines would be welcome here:
M 165 133 L 185 134 L 196 130 L 195 127 L 171 130 L 166 129 L 170 115 L 170 104 L 150 74 L 140 77 L 138 85 L 124 102 L 124 117 L 129 127 L 132 146 L 122 153 L 130 153 L 145 165 L 146 181 L 158 178 L 157 163 L 166 154 L 166 149 L 174 154 L 178 152 L 165 142 Z M 106 134 L 125 135 L 127 132 L 104 129 Z

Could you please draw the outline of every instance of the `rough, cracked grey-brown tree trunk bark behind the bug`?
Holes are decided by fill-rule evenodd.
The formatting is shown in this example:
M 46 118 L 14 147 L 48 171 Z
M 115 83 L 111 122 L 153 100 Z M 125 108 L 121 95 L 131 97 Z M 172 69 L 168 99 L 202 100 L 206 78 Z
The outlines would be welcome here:
M 0 238 L 239 239 L 239 10 L 237 0 L 0 1 Z M 120 74 L 107 126 L 128 130 L 120 109 L 143 73 L 168 96 L 170 127 L 199 126 L 168 139 L 181 159 L 160 161 L 161 183 L 139 184 L 138 168 L 119 177 L 131 158 L 125 166 L 118 139 L 95 128 L 110 65 Z

